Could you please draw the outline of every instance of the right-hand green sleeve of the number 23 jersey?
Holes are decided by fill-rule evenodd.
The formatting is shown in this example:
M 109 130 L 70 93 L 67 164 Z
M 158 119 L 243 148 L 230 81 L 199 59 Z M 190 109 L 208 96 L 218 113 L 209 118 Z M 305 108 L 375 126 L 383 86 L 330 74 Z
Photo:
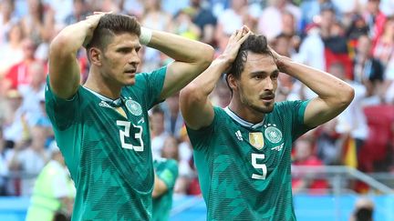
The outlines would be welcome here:
M 167 66 L 154 70 L 150 73 L 140 73 L 136 75 L 136 86 L 140 89 L 147 104 L 148 109 L 161 102 L 159 96 L 164 85 Z

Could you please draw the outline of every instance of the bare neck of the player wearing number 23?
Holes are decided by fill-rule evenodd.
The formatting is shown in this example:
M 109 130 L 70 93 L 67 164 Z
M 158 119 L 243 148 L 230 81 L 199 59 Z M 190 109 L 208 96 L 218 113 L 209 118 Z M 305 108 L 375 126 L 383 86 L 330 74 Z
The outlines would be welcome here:
M 92 69 L 94 68 L 90 69 L 88 80 L 84 86 L 94 92 L 99 93 L 100 95 L 107 96 L 110 99 L 118 99 L 122 86 L 111 84 L 108 79 L 106 80 L 99 76 L 99 73 L 91 71 Z

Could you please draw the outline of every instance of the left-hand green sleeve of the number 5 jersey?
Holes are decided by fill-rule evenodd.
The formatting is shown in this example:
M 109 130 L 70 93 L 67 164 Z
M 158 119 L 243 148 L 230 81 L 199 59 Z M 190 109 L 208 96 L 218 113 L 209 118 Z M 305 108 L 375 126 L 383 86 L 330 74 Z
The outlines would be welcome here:
M 202 127 L 198 130 L 193 130 L 189 126 L 186 125 L 187 133 L 192 142 L 192 147 L 195 150 L 203 150 L 208 148 L 210 145 L 211 137 L 213 136 L 216 124 L 218 122 L 218 118 L 220 116 L 220 111 L 222 108 L 218 106 L 213 107 L 213 122 L 210 126 Z

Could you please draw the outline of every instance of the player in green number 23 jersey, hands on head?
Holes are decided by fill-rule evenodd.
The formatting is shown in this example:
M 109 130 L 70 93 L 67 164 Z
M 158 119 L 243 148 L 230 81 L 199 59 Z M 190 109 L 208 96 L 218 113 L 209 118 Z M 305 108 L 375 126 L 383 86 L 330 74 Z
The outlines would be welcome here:
M 136 75 L 141 44 L 174 61 Z M 80 85 L 77 52 L 89 74 Z M 77 188 L 73 220 L 150 220 L 154 180 L 147 111 L 211 64 L 213 48 L 96 13 L 52 41 L 47 114 Z

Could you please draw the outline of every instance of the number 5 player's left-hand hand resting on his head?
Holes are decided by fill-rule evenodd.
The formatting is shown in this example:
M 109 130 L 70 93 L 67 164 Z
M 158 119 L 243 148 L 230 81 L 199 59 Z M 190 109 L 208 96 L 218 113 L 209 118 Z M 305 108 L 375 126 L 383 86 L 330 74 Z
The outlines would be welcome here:
M 224 59 L 224 62 L 226 62 L 226 64 L 228 65 L 228 67 L 226 68 L 226 72 L 231 68 L 233 61 L 238 55 L 238 51 L 241 45 L 251 34 L 252 32 L 249 30 L 249 28 L 244 25 L 242 29 L 236 30 L 233 35 L 230 36 L 227 46 L 224 49 L 223 54 L 221 55 L 222 59 Z

